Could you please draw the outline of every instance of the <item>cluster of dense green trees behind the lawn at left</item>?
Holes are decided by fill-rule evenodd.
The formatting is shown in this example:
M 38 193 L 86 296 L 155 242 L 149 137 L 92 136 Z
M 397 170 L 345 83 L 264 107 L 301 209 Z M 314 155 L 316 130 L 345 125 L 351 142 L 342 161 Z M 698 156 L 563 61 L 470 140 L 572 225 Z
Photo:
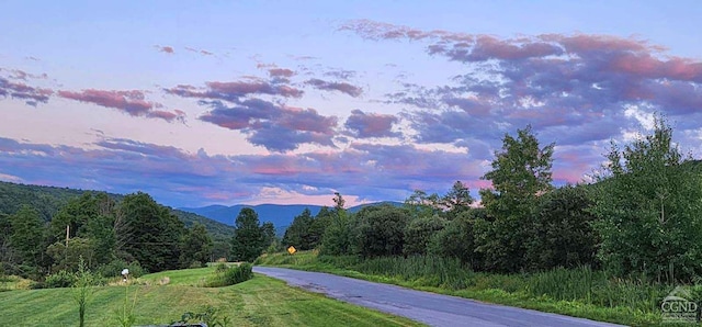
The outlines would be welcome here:
M 141 192 L 120 202 L 106 193 L 86 192 L 69 200 L 48 223 L 26 204 L 13 214 L 0 214 L 0 273 L 34 280 L 76 271 L 80 258 L 98 270 L 136 264 L 157 272 L 203 266 L 211 261 L 212 249 L 204 225 L 185 228 L 169 207 Z

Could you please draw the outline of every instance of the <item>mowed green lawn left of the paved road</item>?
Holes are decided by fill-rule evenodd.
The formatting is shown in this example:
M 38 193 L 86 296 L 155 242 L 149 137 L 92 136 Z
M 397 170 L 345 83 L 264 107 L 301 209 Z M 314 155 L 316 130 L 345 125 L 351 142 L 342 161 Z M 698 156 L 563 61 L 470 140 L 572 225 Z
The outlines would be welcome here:
M 116 312 L 125 303 L 125 292 L 129 304 L 136 294 L 136 325 L 169 324 L 185 312 L 204 312 L 204 306 L 212 305 L 219 317 L 230 318 L 229 326 L 421 326 L 260 274 L 227 287 L 193 286 L 210 274 L 214 268 L 168 271 L 145 275 L 129 286 L 94 287 L 86 326 L 118 326 Z M 169 284 L 156 284 L 166 277 Z M 0 322 L 3 326 L 77 326 L 78 306 L 71 289 L 5 291 L 0 292 Z

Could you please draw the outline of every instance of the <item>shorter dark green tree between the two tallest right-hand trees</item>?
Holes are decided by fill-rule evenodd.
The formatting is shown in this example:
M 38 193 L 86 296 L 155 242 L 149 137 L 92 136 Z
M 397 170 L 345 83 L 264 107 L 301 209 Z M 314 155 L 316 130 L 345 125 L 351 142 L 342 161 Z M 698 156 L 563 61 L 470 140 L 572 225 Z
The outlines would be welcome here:
M 599 238 L 589 213 L 592 201 L 585 187 L 566 185 L 542 196 L 526 243 L 532 269 L 576 268 L 596 262 Z

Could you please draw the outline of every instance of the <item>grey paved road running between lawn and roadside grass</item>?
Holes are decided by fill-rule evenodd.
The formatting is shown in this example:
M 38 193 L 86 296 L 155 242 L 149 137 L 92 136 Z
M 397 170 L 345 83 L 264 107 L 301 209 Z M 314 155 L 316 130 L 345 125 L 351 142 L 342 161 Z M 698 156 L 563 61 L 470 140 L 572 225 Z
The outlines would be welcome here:
M 333 298 L 408 317 L 431 326 L 616 326 L 321 272 L 270 267 L 254 267 L 253 271 L 284 280 L 293 286 L 324 293 Z

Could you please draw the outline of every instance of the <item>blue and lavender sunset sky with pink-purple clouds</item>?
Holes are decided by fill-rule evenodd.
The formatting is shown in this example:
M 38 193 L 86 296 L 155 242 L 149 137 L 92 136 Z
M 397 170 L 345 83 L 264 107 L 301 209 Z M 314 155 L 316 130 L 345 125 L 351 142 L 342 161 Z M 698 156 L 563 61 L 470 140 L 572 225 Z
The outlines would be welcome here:
M 105 2 L 105 3 L 102 3 Z M 0 1 L 0 180 L 170 206 L 577 183 L 663 114 L 702 156 L 699 1 Z

